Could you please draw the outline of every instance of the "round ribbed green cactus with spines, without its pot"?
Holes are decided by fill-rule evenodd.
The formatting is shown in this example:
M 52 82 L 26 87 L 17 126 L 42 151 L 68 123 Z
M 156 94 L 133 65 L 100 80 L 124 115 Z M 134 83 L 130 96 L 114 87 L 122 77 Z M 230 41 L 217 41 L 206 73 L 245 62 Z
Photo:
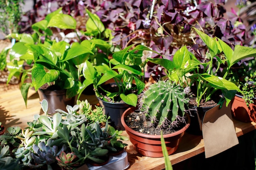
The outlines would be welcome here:
M 138 108 L 151 126 L 171 128 L 185 122 L 184 114 L 188 110 L 187 89 L 169 80 L 151 84 L 141 95 Z

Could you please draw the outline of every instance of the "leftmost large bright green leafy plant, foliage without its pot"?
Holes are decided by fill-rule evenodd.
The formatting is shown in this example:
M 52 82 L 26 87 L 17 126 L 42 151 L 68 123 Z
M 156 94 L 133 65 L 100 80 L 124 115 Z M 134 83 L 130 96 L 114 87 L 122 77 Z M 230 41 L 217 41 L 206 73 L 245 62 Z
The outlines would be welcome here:
M 72 45 L 65 41 L 56 42 L 53 40 L 52 31 L 55 27 L 76 29 L 76 21 L 70 15 L 63 14 L 60 8 L 47 15 L 44 20 L 33 24 L 34 34 L 9 35 L 19 40 L 10 51 L 13 60 L 7 64 L 10 71 L 9 79 L 13 75 L 22 73 L 20 89 L 26 105 L 31 86 L 37 91 L 44 84 L 54 85 L 55 90 L 66 89 L 67 98 L 79 93 L 81 87 L 79 65 L 87 59 L 89 53 L 92 53 L 87 48 L 90 42 L 85 41 L 81 44 L 74 42 Z M 18 58 L 15 58 L 17 56 Z M 23 69 L 24 62 L 33 64 L 33 67 L 29 70 Z M 32 82 L 27 83 L 26 79 L 31 79 Z

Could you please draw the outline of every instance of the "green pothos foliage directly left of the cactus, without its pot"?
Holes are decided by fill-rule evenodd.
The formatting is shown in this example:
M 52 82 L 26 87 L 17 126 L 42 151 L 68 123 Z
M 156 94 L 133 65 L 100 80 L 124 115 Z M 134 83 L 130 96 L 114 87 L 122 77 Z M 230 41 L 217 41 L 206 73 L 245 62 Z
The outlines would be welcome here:
M 136 94 L 141 93 L 145 87 L 144 67 L 146 61 L 143 59 L 144 51 L 154 52 L 143 45 L 130 45 L 113 53 L 109 65 L 93 66 L 86 61 L 83 67 L 83 76 L 88 81 L 87 85 L 93 84 L 97 97 L 104 101 L 109 102 L 103 96 L 106 95 L 112 99 L 112 102 L 123 100 L 126 104 L 136 106 Z M 117 85 L 117 91 L 108 91 L 104 88 L 104 83 L 111 79 Z M 132 85 L 134 83 L 136 86 Z M 135 91 L 135 93 L 132 93 L 132 91 Z

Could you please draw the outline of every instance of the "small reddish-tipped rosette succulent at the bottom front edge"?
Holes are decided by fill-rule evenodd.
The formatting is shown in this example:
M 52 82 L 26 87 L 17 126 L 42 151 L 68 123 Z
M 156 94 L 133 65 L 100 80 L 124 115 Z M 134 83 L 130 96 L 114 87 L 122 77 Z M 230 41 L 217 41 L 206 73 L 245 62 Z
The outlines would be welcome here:
M 80 164 L 75 161 L 76 155 L 74 152 L 65 153 L 61 152 L 61 154 L 56 157 L 58 161 L 58 165 L 62 168 L 62 170 L 72 170 L 74 167 L 79 166 Z

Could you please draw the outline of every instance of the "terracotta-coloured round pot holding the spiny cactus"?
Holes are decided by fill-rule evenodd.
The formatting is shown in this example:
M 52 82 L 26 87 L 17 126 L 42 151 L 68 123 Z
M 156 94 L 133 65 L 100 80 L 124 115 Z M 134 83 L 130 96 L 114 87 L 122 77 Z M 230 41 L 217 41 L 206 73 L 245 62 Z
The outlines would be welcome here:
M 126 117 L 135 110 L 134 107 L 128 108 L 121 117 L 121 122 L 130 136 L 132 146 L 141 155 L 147 157 L 163 157 L 162 146 L 161 146 L 161 135 L 147 135 L 135 130 L 132 130 L 126 125 Z M 163 135 L 168 155 L 175 152 L 180 144 L 180 140 L 185 133 L 185 130 L 189 127 L 190 117 L 188 116 L 188 122 L 181 130 L 173 132 L 171 134 Z

